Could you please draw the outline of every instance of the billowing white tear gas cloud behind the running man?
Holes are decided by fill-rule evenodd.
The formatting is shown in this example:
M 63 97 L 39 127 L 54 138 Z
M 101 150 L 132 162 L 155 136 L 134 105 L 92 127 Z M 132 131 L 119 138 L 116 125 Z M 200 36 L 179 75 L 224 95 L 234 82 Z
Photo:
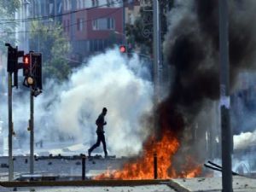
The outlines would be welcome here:
M 49 80 L 43 94 L 35 98 L 36 142 L 42 139 L 44 143 L 58 143 L 73 138 L 84 143 L 83 150 L 87 152 L 96 142 L 96 118 L 106 107 L 105 132 L 110 154 L 137 154 L 150 133 L 149 127 L 142 124 L 143 116 L 151 112 L 153 105 L 150 78 L 148 63 L 140 61 L 137 55 L 127 58 L 118 49 L 109 49 L 91 57 L 63 84 Z M 27 94 L 14 99 L 17 132 L 27 126 L 28 98 Z M 23 137 L 29 141 L 29 132 Z

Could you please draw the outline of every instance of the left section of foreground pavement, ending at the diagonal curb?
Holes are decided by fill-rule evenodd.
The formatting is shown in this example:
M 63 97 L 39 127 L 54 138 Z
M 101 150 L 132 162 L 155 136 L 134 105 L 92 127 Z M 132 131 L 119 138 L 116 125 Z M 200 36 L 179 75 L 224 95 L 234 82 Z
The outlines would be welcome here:
M 170 180 L 85 180 L 85 181 L 32 181 L 0 182 L 5 191 L 45 192 L 176 192 Z

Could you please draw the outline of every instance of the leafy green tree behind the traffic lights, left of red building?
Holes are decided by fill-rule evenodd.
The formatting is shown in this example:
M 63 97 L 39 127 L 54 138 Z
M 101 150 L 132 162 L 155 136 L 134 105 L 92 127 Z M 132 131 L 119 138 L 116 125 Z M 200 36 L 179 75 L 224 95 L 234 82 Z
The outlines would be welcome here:
M 60 82 L 67 79 L 71 72 L 67 56 L 71 45 L 64 35 L 61 24 L 52 22 L 43 25 L 40 21 L 32 21 L 30 34 L 30 49 L 43 55 L 43 80 L 57 79 Z

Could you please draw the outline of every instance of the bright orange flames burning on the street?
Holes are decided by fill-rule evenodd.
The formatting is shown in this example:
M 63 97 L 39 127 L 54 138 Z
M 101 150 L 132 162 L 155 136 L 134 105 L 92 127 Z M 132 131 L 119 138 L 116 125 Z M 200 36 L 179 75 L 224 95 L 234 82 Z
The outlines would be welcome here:
M 136 162 L 126 163 L 121 171 L 108 171 L 94 179 L 152 179 L 154 178 L 154 154 L 157 153 L 158 178 L 195 177 L 201 173 L 201 165 L 195 166 L 187 158 L 183 172 L 177 173 L 172 167 L 172 156 L 177 153 L 180 143 L 172 131 L 165 131 L 160 141 L 150 137 L 144 145 L 143 155 Z M 194 165 L 194 166 L 191 166 Z

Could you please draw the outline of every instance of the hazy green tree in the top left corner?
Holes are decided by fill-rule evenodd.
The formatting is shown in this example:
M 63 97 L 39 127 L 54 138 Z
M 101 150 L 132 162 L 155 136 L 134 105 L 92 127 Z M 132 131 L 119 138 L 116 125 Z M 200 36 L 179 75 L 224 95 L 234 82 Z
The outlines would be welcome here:
M 0 49 L 6 52 L 5 44 L 15 44 L 15 11 L 20 0 L 0 0 Z

